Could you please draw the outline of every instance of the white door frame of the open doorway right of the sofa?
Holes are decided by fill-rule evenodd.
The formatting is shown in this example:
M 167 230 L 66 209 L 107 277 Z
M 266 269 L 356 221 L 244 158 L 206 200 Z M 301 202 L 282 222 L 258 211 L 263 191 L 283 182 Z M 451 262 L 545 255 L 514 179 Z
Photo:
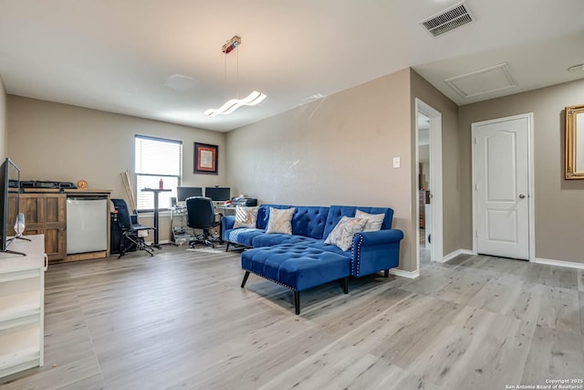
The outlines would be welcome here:
M 416 205 L 416 268 L 420 270 L 420 202 L 418 200 L 418 175 L 420 153 L 418 145 L 418 112 L 430 118 L 430 187 L 432 188 L 432 246 L 430 260 L 443 262 L 443 185 L 442 185 L 442 113 L 416 98 L 415 100 L 415 202 Z

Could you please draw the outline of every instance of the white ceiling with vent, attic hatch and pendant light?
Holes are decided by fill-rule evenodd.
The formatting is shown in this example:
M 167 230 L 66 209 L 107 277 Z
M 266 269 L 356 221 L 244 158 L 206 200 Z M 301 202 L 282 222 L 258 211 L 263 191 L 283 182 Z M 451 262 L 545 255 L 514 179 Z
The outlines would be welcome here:
M 419 25 L 457 3 L 0 0 L 0 75 L 10 94 L 219 132 L 407 67 L 459 105 L 584 78 L 567 71 L 584 63 L 584 1 L 468 0 L 474 23 Z M 464 98 L 444 82 L 504 62 L 514 88 Z M 266 100 L 203 115 L 252 90 Z

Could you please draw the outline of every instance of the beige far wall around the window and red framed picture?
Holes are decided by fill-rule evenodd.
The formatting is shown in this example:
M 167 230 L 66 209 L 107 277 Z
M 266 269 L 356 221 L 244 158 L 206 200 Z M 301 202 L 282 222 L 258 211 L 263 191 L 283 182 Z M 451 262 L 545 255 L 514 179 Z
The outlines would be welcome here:
M 183 184 L 227 185 L 222 132 L 151 121 L 8 95 L 8 151 L 23 180 L 77 183 L 110 189 L 126 198 L 120 172 L 134 169 L 134 135 L 183 141 Z M 193 174 L 193 142 L 219 146 L 219 174 Z M 168 239 L 168 216 L 161 218 L 161 240 Z M 141 220 L 148 223 L 149 219 Z

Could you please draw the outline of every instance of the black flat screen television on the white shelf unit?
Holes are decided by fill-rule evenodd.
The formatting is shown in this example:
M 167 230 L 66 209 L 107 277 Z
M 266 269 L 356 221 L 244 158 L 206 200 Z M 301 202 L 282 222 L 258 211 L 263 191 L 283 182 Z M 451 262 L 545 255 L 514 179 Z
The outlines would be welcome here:
M 0 251 L 24 255 L 24 253 L 8 250 L 15 238 L 9 238 L 10 226 L 16 222 L 19 210 L 20 169 L 12 160 L 6 158 L 0 165 Z

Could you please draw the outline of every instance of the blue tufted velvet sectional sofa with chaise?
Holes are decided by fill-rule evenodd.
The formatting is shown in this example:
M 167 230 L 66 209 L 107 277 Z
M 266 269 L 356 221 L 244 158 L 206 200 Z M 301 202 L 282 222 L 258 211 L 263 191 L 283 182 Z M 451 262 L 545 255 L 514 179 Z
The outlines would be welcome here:
M 266 233 L 270 207 L 295 207 L 291 235 Z M 384 214 L 381 230 L 356 233 L 346 251 L 325 244 L 339 220 L 355 216 L 358 209 Z M 388 207 L 261 205 L 255 228 L 234 228 L 235 216 L 224 216 L 222 232 L 226 250 L 230 244 L 249 248 L 242 253 L 245 276 L 241 287 L 250 273 L 285 286 L 294 291 L 299 314 L 301 290 L 339 279 L 347 293 L 349 276 L 359 278 L 383 270 L 387 278 L 389 269 L 398 267 L 403 233 L 391 229 L 392 219 L 393 210 Z

